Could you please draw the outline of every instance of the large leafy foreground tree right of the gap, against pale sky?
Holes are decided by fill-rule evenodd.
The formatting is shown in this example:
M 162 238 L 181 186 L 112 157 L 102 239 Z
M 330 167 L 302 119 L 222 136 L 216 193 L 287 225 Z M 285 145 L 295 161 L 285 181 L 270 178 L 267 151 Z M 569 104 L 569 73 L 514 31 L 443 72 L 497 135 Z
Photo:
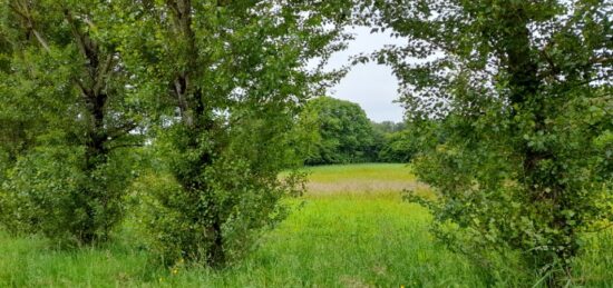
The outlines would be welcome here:
M 486 265 L 487 250 L 519 251 L 560 285 L 582 234 L 613 219 L 610 3 L 366 0 L 361 11 L 409 40 L 373 56 L 400 79 L 409 121 L 444 119 L 445 141 L 416 165 L 440 196 L 427 203 L 437 234 Z

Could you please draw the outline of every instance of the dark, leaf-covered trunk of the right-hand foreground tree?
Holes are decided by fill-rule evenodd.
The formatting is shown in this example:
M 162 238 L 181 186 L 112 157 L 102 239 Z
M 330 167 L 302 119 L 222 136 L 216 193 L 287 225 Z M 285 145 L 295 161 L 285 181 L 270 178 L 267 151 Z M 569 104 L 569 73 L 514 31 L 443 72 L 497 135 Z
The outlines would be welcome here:
M 523 11 L 516 11 L 514 16 L 515 18 L 508 19 L 505 33 L 503 33 L 504 54 L 507 59 L 507 68 L 510 76 L 510 103 L 513 107 L 517 106 L 522 112 L 533 115 L 534 129 L 523 132 L 531 135 L 537 135 L 538 132 L 546 133 L 545 113 L 547 107 L 544 101 L 545 96 L 539 92 L 542 81 L 538 76 L 537 62 L 534 60 L 533 48 L 531 47 L 526 17 L 523 14 Z M 516 113 L 517 111 L 514 110 L 512 117 Z M 514 129 L 522 131 L 520 127 L 515 127 Z M 518 137 L 523 136 L 518 135 Z M 539 266 L 552 265 L 557 261 L 565 272 L 570 272 L 571 267 L 567 259 L 576 254 L 576 247 L 566 242 L 563 238 L 570 237 L 574 239 L 576 234 L 567 225 L 566 218 L 560 213 L 566 207 L 563 199 L 566 188 L 558 183 L 557 179 L 552 179 L 549 175 L 545 175 L 541 170 L 543 161 L 555 160 L 554 151 L 551 151 L 547 147 L 545 149 L 535 149 L 529 145 L 529 141 L 525 140 L 523 147 L 519 148 L 519 152 L 524 156 L 524 181 L 529 197 L 534 202 L 553 202 L 554 212 L 548 227 L 564 231 L 564 235 L 560 236 L 561 239 L 555 239 L 551 245 L 552 247 L 563 246 L 563 250 L 553 252 L 552 250 L 541 251 L 533 249 L 533 255 Z M 555 267 L 549 267 L 547 272 L 551 272 L 553 269 Z M 560 272 L 552 272 L 548 286 L 557 287 L 562 276 Z

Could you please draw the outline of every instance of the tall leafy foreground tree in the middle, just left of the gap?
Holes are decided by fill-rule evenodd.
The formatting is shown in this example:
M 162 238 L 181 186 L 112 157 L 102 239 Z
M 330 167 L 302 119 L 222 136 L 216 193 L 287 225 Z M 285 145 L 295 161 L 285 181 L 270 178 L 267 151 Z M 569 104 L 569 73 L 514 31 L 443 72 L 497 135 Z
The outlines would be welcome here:
M 278 178 L 288 132 L 318 82 L 331 79 L 305 64 L 342 47 L 343 4 L 117 4 L 121 51 L 152 103 L 154 145 L 172 175 L 143 185 L 150 245 L 167 262 L 223 267 L 281 218 L 280 199 L 294 191 Z

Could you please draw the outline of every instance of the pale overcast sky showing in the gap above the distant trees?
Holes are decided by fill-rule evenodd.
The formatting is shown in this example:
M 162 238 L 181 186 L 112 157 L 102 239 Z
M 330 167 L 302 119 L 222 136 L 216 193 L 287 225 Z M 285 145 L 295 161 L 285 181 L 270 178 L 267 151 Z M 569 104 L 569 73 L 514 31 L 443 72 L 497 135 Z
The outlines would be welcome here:
M 351 32 L 356 34 L 356 39 L 349 44 L 349 49 L 330 59 L 330 67 L 348 63 L 351 56 L 372 52 L 385 44 L 400 43 L 400 40 L 388 34 L 371 34 L 370 28 L 354 28 Z M 359 103 L 371 120 L 399 122 L 402 120 L 403 109 L 393 103 L 393 100 L 398 99 L 397 89 L 398 81 L 389 67 L 367 63 L 354 66 L 347 77 L 330 90 L 330 95 Z

